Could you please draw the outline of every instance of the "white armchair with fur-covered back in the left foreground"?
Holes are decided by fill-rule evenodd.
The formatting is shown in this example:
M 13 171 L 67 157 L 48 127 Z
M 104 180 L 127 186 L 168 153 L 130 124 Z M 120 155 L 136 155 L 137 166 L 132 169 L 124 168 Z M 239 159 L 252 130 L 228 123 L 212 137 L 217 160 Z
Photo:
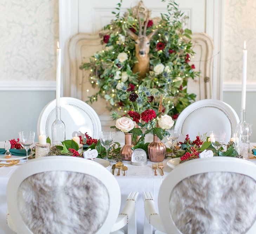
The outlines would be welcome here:
M 16 233 L 136 233 L 137 192 L 121 212 L 116 178 L 91 160 L 51 156 L 32 160 L 7 185 L 7 223 Z

